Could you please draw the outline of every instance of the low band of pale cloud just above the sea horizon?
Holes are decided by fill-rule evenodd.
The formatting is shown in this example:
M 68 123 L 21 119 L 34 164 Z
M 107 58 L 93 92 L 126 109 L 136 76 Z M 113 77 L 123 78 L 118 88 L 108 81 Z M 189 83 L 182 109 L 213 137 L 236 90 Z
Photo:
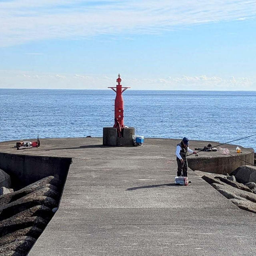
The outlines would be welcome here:
M 0 88 L 107 89 L 116 75 L 52 74 L 0 70 Z M 123 86 L 134 90 L 256 90 L 256 77 L 180 76 L 131 78 L 121 76 Z M 36 80 L 36 83 L 35 83 Z

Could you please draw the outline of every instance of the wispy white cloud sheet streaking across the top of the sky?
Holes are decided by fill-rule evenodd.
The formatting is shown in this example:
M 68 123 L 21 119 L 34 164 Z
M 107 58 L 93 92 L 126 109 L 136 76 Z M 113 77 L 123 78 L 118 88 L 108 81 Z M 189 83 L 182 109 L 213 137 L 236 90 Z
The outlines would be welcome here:
M 98 34 L 162 33 L 176 26 L 244 20 L 254 0 L 13 0 L 0 2 L 0 46 Z

